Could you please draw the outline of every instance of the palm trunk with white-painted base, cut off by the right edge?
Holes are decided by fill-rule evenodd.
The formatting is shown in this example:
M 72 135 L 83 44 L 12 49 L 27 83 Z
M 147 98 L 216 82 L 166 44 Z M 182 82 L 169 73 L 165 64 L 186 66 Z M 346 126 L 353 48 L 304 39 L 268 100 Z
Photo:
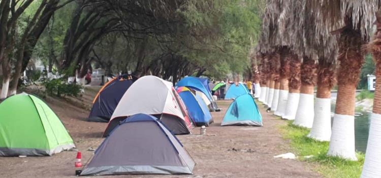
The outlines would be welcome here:
M 377 13 L 377 28 L 381 25 L 381 14 Z M 368 145 L 366 147 L 365 162 L 362 178 L 381 177 L 381 29 L 377 29 L 376 38 L 369 45 L 373 50 L 376 62 L 376 86 L 374 91 L 373 112 L 370 119 Z

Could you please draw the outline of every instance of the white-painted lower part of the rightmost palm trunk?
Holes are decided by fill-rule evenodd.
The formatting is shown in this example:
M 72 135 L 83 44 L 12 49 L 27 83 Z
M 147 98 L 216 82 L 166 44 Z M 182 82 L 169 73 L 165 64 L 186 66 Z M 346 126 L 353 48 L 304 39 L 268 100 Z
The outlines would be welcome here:
M 362 178 L 381 177 L 381 114 L 372 113 Z

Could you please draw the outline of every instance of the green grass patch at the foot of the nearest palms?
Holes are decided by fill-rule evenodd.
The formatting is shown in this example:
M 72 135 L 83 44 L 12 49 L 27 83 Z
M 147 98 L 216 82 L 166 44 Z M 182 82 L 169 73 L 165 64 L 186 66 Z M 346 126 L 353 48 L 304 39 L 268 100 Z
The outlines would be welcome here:
M 325 177 L 360 177 L 365 155 L 357 153 L 359 161 L 348 161 L 338 157 L 328 157 L 329 142 L 316 141 L 308 138 L 309 129 L 292 125 L 280 126 L 280 131 L 285 139 L 290 139 L 292 149 L 299 160 L 315 163 L 316 171 Z M 304 156 L 313 155 L 311 158 Z

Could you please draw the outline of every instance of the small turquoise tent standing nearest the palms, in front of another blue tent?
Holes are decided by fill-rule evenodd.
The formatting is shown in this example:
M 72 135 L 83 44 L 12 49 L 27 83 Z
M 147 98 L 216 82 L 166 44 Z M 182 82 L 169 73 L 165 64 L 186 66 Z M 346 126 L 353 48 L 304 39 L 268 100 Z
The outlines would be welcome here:
M 258 106 L 250 94 L 237 97 L 226 111 L 221 126 L 263 126 Z

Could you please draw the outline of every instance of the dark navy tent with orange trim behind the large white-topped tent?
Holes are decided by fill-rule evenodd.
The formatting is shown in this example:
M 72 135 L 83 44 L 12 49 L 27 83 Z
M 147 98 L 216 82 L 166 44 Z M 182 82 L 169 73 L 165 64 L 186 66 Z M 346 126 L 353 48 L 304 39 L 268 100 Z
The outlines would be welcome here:
M 120 99 L 132 83 L 133 80 L 121 78 L 114 78 L 106 83 L 94 99 L 87 121 L 108 123 Z

